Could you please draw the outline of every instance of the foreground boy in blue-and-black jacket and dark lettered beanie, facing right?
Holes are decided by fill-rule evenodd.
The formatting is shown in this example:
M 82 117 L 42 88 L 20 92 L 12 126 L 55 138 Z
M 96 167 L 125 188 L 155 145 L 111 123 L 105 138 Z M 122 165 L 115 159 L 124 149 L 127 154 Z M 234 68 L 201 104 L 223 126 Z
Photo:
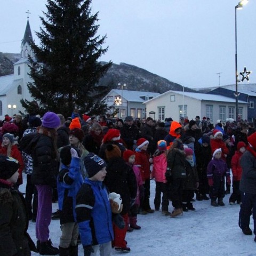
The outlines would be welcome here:
M 76 215 L 84 256 L 111 255 L 114 239 L 108 191 L 102 181 L 106 177 L 106 162 L 90 153 L 84 158 L 88 177 L 76 197 Z

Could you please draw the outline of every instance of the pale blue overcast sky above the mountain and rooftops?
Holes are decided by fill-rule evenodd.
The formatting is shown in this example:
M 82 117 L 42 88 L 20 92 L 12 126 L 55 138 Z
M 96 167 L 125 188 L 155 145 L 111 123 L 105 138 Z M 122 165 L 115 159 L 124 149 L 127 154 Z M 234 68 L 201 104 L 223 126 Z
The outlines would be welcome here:
M 238 0 L 92 0 L 99 35 L 109 50 L 101 61 L 125 62 L 183 86 L 235 84 L 235 6 Z M 0 52 L 20 52 L 27 14 L 33 37 L 46 0 L 1 0 Z M 256 0 L 237 10 L 238 71 L 256 83 Z M 243 83 L 247 83 L 245 80 Z

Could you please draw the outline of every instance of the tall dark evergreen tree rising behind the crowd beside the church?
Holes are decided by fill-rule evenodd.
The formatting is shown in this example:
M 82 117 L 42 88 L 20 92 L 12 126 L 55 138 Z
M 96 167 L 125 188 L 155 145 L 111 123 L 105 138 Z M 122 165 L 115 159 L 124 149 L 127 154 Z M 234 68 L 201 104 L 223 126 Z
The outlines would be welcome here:
M 106 36 L 97 35 L 98 13 L 91 14 L 91 0 L 47 0 L 47 12 L 40 17 L 43 28 L 36 33 L 40 45 L 31 43 L 36 59 L 30 60 L 28 84 L 33 101 L 22 100 L 28 113 L 47 110 L 70 116 L 74 108 L 81 113 L 102 114 L 100 100 L 109 91 L 97 86 L 111 62 L 98 59 Z

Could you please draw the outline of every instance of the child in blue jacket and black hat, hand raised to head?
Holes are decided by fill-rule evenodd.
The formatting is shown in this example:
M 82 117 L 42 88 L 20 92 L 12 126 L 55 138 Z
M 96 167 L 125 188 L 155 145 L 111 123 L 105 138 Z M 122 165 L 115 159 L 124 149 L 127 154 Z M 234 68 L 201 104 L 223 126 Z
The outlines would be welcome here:
M 60 255 L 78 255 L 77 237 L 79 234 L 76 222 L 76 195 L 83 184 L 80 173 L 80 158 L 71 146 L 60 150 L 61 170 L 58 174 L 57 189 L 59 197 L 61 237 Z

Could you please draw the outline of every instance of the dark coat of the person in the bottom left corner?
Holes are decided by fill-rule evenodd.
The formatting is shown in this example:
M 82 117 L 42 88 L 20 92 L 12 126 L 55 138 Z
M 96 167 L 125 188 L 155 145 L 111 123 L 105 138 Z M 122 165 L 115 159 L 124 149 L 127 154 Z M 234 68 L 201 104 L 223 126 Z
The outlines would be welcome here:
M 0 255 L 30 256 L 35 244 L 27 230 L 25 198 L 18 190 L 0 182 Z

